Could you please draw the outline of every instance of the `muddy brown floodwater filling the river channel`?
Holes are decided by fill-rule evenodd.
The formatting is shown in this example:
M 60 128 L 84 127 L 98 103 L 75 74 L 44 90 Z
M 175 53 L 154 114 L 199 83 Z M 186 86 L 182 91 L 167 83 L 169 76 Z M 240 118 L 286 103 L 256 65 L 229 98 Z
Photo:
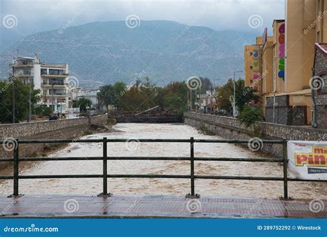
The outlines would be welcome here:
M 101 133 L 83 138 L 190 138 L 217 139 L 203 135 L 184 124 L 117 124 L 119 133 Z M 128 149 L 127 149 L 128 148 Z M 52 157 L 101 156 L 102 144 L 72 143 L 53 153 Z M 108 143 L 108 156 L 184 156 L 190 155 L 187 143 Z M 195 144 L 196 157 L 261 157 L 246 148 L 233 144 Z M 276 176 L 282 177 L 279 163 L 267 162 L 195 162 L 195 174 L 215 176 Z M 102 162 L 44 161 L 23 162 L 21 175 L 51 174 L 101 174 Z M 9 175 L 12 168 L 0 171 Z M 190 173 L 188 161 L 108 161 L 109 174 L 186 174 Z M 90 194 L 101 193 L 101 178 L 33 179 L 19 180 L 19 193 L 26 194 Z M 188 179 L 155 178 L 108 178 L 108 191 L 117 194 L 171 194 L 185 195 L 190 192 Z M 254 180 L 195 180 L 195 191 L 204 196 L 269 197 L 283 196 L 283 182 Z M 12 193 L 12 180 L 0 182 L 0 194 Z M 326 199 L 327 184 L 318 182 L 288 182 L 288 195 L 293 198 Z

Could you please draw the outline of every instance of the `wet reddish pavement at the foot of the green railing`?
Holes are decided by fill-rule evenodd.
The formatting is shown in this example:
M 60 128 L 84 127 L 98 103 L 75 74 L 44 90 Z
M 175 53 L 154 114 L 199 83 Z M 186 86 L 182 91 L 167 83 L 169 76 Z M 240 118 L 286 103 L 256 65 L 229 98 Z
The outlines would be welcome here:
M 0 196 L 1 218 L 327 218 L 327 200 L 203 196 Z M 311 202 L 311 203 L 310 203 Z

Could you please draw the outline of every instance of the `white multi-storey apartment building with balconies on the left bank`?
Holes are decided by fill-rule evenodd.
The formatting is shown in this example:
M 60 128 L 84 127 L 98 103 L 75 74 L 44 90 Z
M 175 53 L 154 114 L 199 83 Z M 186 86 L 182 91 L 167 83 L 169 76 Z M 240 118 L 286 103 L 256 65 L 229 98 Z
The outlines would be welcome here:
M 34 54 L 34 57 L 17 57 L 9 66 L 23 84 L 33 83 L 35 89 L 41 90 L 41 104 L 48 107 L 53 104 L 54 112 L 66 112 L 69 92 L 68 64 L 43 63 Z

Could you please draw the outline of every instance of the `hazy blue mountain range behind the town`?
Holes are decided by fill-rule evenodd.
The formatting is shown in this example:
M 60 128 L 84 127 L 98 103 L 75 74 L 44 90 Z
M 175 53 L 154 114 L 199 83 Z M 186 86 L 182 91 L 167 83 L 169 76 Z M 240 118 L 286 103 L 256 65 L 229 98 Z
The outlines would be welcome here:
M 1 51 L 0 77 L 17 56 L 39 55 L 48 63 L 68 63 L 80 86 L 96 88 L 117 81 L 130 84 L 150 77 L 163 85 L 190 76 L 222 80 L 244 69 L 244 45 L 250 32 L 217 31 L 175 21 L 98 21 L 38 32 Z

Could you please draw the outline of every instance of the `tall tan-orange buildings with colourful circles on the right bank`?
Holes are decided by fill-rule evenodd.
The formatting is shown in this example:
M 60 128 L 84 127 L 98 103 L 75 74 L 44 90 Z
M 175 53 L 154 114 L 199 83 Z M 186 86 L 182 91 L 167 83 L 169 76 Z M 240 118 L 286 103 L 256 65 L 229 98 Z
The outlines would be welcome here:
M 326 44 L 320 44 L 327 42 L 326 15 L 327 0 L 287 0 L 286 21 L 273 22 L 273 36 L 266 29 L 256 44 L 245 46 L 246 86 L 261 96 L 253 104 L 262 108 L 266 122 L 327 128 L 326 99 L 315 104 L 319 92 L 312 84 L 315 75 L 327 83 L 321 76 L 327 71 Z

